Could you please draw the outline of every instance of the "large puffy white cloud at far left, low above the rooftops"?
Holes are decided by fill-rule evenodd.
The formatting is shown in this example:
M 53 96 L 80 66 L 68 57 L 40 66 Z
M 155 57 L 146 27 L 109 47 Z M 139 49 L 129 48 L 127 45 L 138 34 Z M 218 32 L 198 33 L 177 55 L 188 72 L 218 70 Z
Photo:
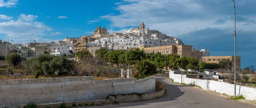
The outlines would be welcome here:
M 44 36 L 58 36 L 63 33 L 54 31 L 45 26 L 42 22 L 37 22 L 37 16 L 21 14 L 17 20 L 0 22 L 0 34 L 5 35 L 10 40 L 40 40 Z

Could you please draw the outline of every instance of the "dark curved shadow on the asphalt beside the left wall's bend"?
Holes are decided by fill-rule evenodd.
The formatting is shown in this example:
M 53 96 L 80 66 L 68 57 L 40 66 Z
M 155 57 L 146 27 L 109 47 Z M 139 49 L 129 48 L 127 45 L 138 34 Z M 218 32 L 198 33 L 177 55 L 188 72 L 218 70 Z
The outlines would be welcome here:
M 163 84 L 165 85 L 165 87 L 167 88 L 167 93 L 166 95 L 164 95 L 163 97 L 160 97 L 159 99 L 153 99 L 153 100 L 148 100 L 148 101 L 141 101 L 141 102 L 131 102 L 129 104 L 120 104 L 120 105 L 116 105 L 116 106 L 111 106 L 111 108 L 115 108 L 115 107 L 128 107 L 128 106 L 136 106 L 136 105 L 146 105 L 149 103 L 156 103 L 156 102 L 166 102 L 166 101 L 172 101 L 172 100 L 176 100 L 177 97 L 180 97 L 184 94 L 184 91 L 180 91 L 180 88 L 177 88 L 178 85 L 172 85 L 171 84 L 171 80 L 168 81 L 168 78 L 157 78 L 157 81 L 163 82 Z M 167 80 L 166 83 L 165 81 Z M 186 85 L 184 85 L 186 86 Z M 184 87 L 183 86 L 183 87 Z M 105 108 L 104 106 L 100 107 L 100 108 Z

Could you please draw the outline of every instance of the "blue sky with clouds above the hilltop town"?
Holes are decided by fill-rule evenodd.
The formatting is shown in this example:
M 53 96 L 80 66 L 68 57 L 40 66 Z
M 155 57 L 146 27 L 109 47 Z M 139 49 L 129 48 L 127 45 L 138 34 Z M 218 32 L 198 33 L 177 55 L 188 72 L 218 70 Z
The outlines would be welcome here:
M 256 0 L 235 1 L 237 31 L 256 31 Z M 234 55 L 232 0 L 0 0 L 0 39 L 12 43 L 90 35 L 99 25 L 120 32 L 142 21 L 211 56 Z M 254 43 L 256 33 L 237 33 L 243 68 L 256 64 Z

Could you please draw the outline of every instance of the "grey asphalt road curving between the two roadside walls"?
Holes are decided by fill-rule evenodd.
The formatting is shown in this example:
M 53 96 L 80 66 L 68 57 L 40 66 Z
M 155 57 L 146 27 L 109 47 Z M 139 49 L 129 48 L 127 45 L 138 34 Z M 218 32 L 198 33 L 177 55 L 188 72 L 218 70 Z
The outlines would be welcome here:
M 255 108 L 241 102 L 225 99 L 189 85 L 173 83 L 167 77 L 157 77 L 164 83 L 167 94 L 159 99 L 119 105 L 92 106 L 90 108 Z

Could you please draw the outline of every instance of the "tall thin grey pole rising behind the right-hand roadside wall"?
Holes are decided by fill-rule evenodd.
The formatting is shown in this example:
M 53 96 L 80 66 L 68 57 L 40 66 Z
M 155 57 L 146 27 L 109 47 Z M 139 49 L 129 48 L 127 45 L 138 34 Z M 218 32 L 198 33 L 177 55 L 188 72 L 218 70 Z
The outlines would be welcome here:
M 235 73 L 235 84 L 234 84 L 234 97 L 236 97 L 236 3 L 234 2 L 234 37 L 235 37 L 235 67 L 234 67 L 234 73 Z

